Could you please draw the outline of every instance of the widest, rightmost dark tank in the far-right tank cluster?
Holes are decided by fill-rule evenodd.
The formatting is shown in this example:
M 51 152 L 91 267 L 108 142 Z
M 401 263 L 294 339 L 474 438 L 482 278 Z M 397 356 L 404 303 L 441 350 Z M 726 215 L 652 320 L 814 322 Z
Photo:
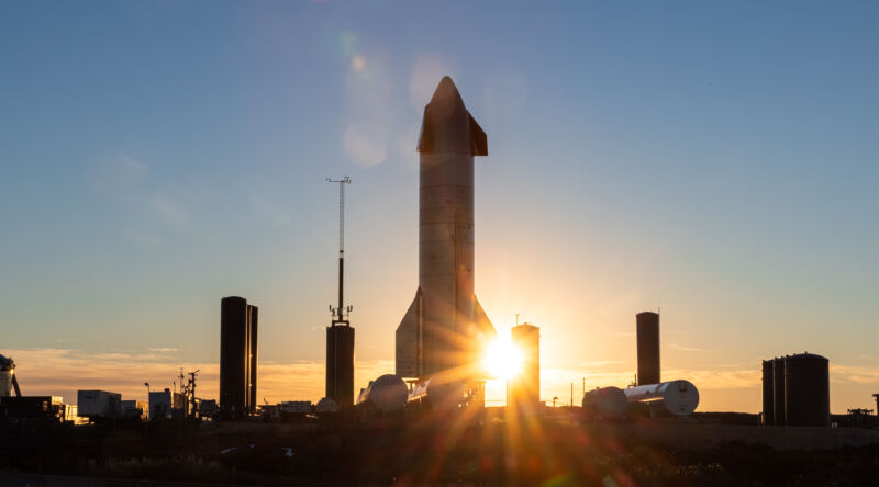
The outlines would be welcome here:
M 785 418 L 788 426 L 827 426 L 831 414 L 830 362 L 813 353 L 785 363 Z

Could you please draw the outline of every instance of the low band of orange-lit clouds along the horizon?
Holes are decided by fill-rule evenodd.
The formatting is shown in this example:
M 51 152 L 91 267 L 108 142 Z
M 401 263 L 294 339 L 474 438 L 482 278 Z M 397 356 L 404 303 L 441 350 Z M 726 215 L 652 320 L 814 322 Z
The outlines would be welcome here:
M 104 389 L 121 393 L 126 398 L 144 399 L 144 382 L 148 382 L 153 389 L 173 387 L 171 383 L 182 367 L 187 372 L 200 371 L 198 388 L 201 397 L 218 397 L 219 364 L 175 362 L 167 355 L 173 351 L 170 348 L 155 348 L 132 353 L 89 353 L 74 349 L 45 348 L 9 350 L 5 354 L 15 360 L 22 392 L 26 395 L 64 396 L 68 403 L 75 403 L 77 389 Z M 615 361 L 596 361 L 582 363 L 575 369 L 544 367 L 541 371 L 541 398 L 552 401 L 554 396 L 558 396 L 566 403 L 572 385 L 575 401 L 579 401 L 583 378 L 589 389 L 625 387 L 634 378 L 634 373 L 621 365 Z M 324 394 L 324 366 L 323 361 L 259 362 L 257 390 L 260 401 L 316 401 Z M 354 372 L 355 394 L 370 380 L 393 373 L 393 369 L 392 360 L 357 361 Z M 852 397 L 865 396 L 879 384 L 879 367 L 831 364 L 830 373 L 834 394 L 842 394 L 841 399 L 834 400 L 848 397 L 845 394 Z M 686 378 L 696 384 L 704 405 L 700 407 L 701 410 L 759 409 L 761 377 L 756 365 L 712 370 L 665 367 L 663 377 Z M 486 384 L 486 399 L 489 405 L 502 405 L 504 397 L 503 381 L 489 381 Z

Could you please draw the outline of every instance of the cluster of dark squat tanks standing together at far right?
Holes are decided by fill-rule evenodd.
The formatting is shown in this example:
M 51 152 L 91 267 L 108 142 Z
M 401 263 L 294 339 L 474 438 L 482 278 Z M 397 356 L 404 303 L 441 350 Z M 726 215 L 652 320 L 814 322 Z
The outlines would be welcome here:
M 827 426 L 830 362 L 814 353 L 763 361 L 763 423 Z

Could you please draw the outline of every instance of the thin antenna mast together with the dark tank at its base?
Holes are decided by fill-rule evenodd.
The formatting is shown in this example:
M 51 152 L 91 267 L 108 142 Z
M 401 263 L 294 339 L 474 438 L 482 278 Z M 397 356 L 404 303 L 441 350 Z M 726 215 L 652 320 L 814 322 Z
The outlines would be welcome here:
M 354 328 L 348 321 L 353 307 L 344 301 L 345 184 L 351 184 L 351 178 L 326 181 L 338 184 L 338 306 L 330 305 L 333 318 L 326 327 L 326 397 L 347 408 L 354 405 Z

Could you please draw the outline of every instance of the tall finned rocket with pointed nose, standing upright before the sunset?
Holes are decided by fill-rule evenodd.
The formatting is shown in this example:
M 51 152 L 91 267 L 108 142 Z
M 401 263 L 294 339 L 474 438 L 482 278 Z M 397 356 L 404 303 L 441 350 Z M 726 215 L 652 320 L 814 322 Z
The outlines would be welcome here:
M 397 327 L 397 374 L 477 378 L 497 335 L 474 291 L 474 156 L 488 156 L 482 127 L 444 77 L 421 123 L 419 288 Z

